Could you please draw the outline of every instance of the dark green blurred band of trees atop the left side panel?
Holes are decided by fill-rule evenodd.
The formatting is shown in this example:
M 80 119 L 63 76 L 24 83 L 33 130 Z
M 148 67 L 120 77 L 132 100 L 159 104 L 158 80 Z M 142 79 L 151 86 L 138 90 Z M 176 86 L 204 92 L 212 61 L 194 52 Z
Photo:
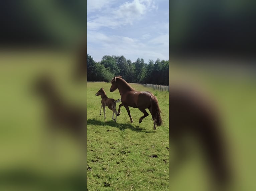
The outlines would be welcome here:
M 70 47 L 85 36 L 85 1 L 14 0 L 0 7 L 3 47 Z

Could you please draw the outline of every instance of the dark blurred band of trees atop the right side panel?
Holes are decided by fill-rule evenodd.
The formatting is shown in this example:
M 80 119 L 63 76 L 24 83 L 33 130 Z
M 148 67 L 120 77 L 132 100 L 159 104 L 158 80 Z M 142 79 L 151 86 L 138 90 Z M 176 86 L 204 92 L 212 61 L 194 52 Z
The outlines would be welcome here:
M 255 56 L 254 1 L 171 1 L 170 55 Z

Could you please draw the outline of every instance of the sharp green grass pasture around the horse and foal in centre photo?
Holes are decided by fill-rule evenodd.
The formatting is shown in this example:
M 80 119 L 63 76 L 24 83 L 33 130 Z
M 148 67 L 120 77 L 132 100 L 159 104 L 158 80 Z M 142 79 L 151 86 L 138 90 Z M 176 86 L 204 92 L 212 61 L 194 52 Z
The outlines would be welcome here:
M 163 112 L 163 125 L 153 130 L 149 116 L 139 124 L 143 113 L 130 108 L 134 122 L 130 123 L 124 107 L 112 120 L 106 107 L 100 115 L 101 97 L 95 96 L 104 87 L 110 98 L 118 99 L 118 90 L 111 93 L 111 84 L 87 83 L 87 188 L 91 190 L 169 190 L 169 93 L 153 91 L 139 84 L 130 84 L 139 91 L 151 91 L 157 96 Z M 118 105 L 121 102 L 117 103 Z M 152 157 L 155 156 L 155 157 Z M 157 156 L 157 157 L 156 157 Z

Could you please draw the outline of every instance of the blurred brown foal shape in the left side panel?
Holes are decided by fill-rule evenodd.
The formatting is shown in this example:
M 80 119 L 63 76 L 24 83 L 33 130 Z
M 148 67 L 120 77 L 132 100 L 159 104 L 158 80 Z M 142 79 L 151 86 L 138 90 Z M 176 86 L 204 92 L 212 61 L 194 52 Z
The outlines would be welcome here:
M 43 97 L 49 130 L 67 131 L 77 138 L 82 138 L 82 135 L 85 135 L 85 108 L 68 104 L 48 75 L 38 77 L 33 88 L 37 95 Z

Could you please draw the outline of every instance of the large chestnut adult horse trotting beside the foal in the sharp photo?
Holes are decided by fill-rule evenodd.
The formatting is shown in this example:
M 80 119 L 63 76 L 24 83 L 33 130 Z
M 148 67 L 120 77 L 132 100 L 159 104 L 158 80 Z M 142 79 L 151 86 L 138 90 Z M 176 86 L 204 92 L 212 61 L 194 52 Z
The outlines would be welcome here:
M 160 126 L 162 124 L 162 118 L 160 115 L 161 110 L 158 105 L 158 100 L 151 92 L 136 91 L 127 82 L 125 82 L 121 76 L 114 77 L 111 80 L 111 84 L 110 92 L 114 92 L 116 89 L 118 89 L 122 99 L 122 103 L 119 105 L 117 115 L 120 114 L 120 107 L 124 106 L 132 123 L 133 120 L 129 106 L 139 108 L 139 110 L 144 113 L 144 115 L 139 119 L 139 123 L 141 123 L 142 119 L 148 116 L 146 111 L 146 108 L 148 108 L 154 121 L 154 129 L 156 129 L 156 125 Z

